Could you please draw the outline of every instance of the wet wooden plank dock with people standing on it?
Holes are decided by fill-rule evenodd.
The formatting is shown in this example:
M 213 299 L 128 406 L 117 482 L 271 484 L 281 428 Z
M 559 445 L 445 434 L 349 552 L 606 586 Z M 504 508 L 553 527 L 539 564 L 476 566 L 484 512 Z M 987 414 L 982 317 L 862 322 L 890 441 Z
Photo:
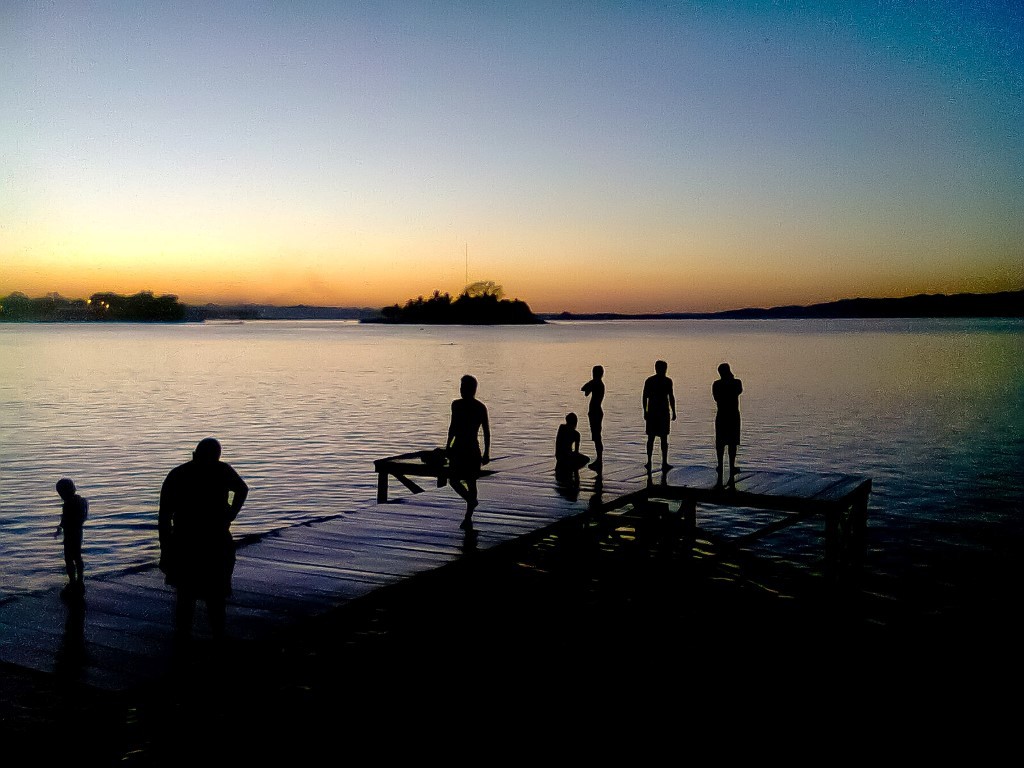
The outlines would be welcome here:
M 381 590 L 500 556 L 556 530 L 615 537 L 642 527 L 690 546 L 703 516 L 720 507 L 778 513 L 771 523 L 735 538 L 734 546 L 820 516 L 826 573 L 855 566 L 863 551 L 870 493 L 863 477 L 752 470 L 723 487 L 707 467 L 648 474 L 639 464 L 606 463 L 599 479 L 585 469 L 579 484 L 566 484 L 556 482 L 549 458 L 506 457 L 487 466 L 474 530 L 465 532 L 459 529 L 464 502 L 451 489 L 425 493 L 401 481 L 412 493 L 387 500 L 391 470 L 406 480 L 414 473 L 441 481 L 436 473 L 419 472 L 416 458 L 376 463 L 380 502 L 242 543 L 228 638 L 269 639 Z M 173 605 L 174 592 L 156 563 L 87 580 L 84 609 L 62 602 L 56 587 L 10 597 L 0 602 L 0 662 L 104 690 L 153 682 L 173 669 Z M 201 603 L 196 635 L 202 641 L 205 633 Z

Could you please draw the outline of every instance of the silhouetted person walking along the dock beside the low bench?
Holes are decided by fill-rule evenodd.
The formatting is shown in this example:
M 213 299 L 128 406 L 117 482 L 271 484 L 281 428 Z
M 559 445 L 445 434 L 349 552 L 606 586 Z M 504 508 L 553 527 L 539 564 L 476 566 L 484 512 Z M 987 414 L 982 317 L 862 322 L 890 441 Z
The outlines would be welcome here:
M 452 422 L 449 424 L 444 451 L 449 458 L 449 484 L 466 500 L 466 516 L 459 527 L 468 529 L 473 525 L 473 510 L 479 501 L 476 479 L 480 467 L 490 461 L 490 424 L 486 407 L 476 399 L 476 379 L 463 376 L 459 392 L 462 395 L 452 400 Z M 483 453 L 477 434 L 483 430 Z

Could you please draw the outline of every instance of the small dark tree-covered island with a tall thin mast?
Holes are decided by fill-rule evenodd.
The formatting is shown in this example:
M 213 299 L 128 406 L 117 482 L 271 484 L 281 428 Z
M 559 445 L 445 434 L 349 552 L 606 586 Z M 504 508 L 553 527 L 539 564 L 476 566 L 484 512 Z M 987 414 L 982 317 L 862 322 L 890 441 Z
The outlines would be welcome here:
M 394 323 L 437 326 L 523 326 L 545 323 L 519 299 L 502 298 L 502 288 L 492 281 L 473 283 L 455 299 L 434 291 L 430 298 L 410 299 L 404 306 L 393 304 L 381 309 L 379 317 L 360 323 Z

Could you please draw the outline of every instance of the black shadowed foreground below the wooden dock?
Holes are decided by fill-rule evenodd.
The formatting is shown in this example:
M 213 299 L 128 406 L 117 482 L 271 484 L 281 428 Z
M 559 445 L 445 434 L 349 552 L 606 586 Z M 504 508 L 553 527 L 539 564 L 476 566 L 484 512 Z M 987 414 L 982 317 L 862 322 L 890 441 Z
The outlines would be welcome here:
M 998 695 L 1022 681 L 1008 563 L 930 563 L 893 600 L 765 552 L 588 552 L 551 537 L 272 641 L 197 641 L 169 679 L 125 693 L 0 666 L 3 762 L 600 756 L 811 723 L 907 736 L 922 717 L 959 737 L 984 722 L 984 751 L 1016 717 Z

